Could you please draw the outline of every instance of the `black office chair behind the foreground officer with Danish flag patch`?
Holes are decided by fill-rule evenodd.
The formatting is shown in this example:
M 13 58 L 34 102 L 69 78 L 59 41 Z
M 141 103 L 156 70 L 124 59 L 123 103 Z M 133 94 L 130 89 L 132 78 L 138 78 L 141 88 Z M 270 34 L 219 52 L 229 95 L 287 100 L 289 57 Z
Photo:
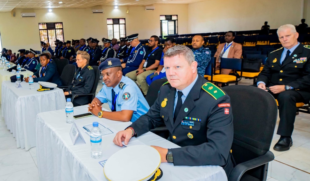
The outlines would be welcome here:
M 277 122 L 277 103 L 268 92 L 245 85 L 226 86 L 234 126 L 232 156 L 236 162 L 228 181 L 265 181 Z

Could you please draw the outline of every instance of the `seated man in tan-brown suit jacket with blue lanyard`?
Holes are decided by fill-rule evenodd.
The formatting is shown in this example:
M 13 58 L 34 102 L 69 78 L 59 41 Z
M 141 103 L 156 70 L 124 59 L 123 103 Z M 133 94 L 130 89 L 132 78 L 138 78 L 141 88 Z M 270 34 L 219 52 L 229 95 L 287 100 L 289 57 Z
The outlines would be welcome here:
M 219 44 L 217 51 L 214 55 L 216 57 L 216 67 L 219 67 L 220 58 L 241 58 L 242 46 L 238 43 L 233 42 L 235 39 L 235 32 L 228 31 L 225 34 L 226 43 Z M 228 75 L 231 69 L 221 69 L 221 74 Z

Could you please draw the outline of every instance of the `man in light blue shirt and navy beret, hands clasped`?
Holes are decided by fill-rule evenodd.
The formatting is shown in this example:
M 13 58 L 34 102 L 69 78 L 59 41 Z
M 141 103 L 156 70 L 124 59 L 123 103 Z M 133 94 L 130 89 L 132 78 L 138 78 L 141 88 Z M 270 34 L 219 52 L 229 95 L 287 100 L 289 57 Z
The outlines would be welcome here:
M 148 112 L 149 106 L 137 84 L 124 77 L 121 61 L 118 58 L 108 58 L 103 61 L 99 70 L 104 86 L 89 104 L 88 109 L 99 118 L 122 122 L 134 122 Z M 102 111 L 102 103 L 108 103 L 112 112 Z

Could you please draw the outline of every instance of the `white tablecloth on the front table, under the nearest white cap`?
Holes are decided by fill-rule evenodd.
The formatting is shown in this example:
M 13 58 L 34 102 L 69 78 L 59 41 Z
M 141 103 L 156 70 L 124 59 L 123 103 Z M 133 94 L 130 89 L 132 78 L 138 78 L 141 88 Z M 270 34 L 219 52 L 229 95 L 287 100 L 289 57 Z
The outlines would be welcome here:
M 87 112 L 87 106 L 74 107 L 74 114 L 79 115 Z M 112 142 L 116 133 L 102 137 L 102 157 L 91 158 L 90 137 L 81 132 L 86 144 L 76 143 L 73 145 L 69 136 L 72 124 L 66 124 L 65 110 L 39 113 L 37 115 L 37 163 L 39 178 L 42 181 L 71 181 L 71 180 L 96 180 L 106 181 L 103 167 L 99 161 L 107 160 L 113 153 L 124 147 L 114 145 Z M 74 120 L 82 127 L 98 121 L 107 127 L 120 131 L 125 129 L 131 122 L 119 122 L 91 116 Z M 82 131 L 82 130 L 80 130 Z M 154 133 L 148 132 L 138 137 L 138 140 L 146 145 L 156 145 L 165 148 L 179 147 Z M 227 181 L 225 171 L 220 166 L 173 166 L 162 163 L 160 168 L 163 176 L 160 181 Z M 135 169 L 135 168 L 128 168 Z M 122 170 L 119 170 L 122 174 Z

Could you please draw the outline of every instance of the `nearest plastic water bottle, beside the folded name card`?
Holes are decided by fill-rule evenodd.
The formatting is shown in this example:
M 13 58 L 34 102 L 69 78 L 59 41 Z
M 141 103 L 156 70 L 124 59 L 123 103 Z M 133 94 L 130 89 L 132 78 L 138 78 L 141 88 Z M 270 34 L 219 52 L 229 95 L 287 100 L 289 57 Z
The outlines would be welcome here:
M 93 122 L 93 128 L 91 129 L 91 157 L 100 158 L 102 155 L 101 147 L 101 129 L 98 127 L 98 122 Z

